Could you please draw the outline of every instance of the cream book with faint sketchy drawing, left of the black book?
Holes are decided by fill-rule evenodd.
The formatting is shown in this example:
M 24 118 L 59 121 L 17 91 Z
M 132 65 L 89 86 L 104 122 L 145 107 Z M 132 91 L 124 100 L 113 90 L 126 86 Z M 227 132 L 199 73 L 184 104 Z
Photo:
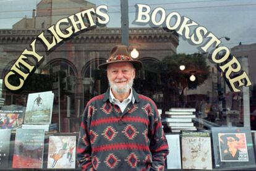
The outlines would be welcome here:
M 212 169 L 208 132 L 182 131 L 182 169 Z

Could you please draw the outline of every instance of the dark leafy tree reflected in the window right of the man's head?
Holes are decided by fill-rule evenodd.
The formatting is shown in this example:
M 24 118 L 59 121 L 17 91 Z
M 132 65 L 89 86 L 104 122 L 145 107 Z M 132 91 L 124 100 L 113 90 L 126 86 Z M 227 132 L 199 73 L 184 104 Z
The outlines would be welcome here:
M 185 65 L 186 69 L 180 70 L 181 65 Z M 160 107 L 164 111 L 170 107 L 186 107 L 184 90 L 202 85 L 208 78 L 209 68 L 202 54 L 174 54 L 160 62 L 144 64 L 144 71 L 140 74 L 143 79 L 137 79 L 135 86 L 140 93 L 151 98 L 154 93 L 161 92 L 163 104 Z M 196 77 L 195 81 L 189 80 L 192 74 Z

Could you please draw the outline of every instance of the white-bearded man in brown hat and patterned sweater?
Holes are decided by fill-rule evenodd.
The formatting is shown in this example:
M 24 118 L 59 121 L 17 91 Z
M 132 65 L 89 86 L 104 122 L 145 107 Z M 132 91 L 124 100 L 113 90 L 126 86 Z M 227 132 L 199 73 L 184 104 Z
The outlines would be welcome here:
M 155 103 L 132 88 L 142 63 L 115 46 L 105 64 L 110 88 L 85 107 L 77 146 L 82 170 L 163 170 L 168 154 Z

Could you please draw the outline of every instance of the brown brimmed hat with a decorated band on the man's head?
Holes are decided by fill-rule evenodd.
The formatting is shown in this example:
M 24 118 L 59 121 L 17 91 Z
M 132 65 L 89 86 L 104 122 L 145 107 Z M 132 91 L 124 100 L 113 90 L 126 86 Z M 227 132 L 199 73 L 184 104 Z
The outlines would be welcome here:
M 140 62 L 139 60 L 132 59 L 129 50 L 125 45 L 114 46 L 114 48 L 110 52 L 109 59 L 106 60 L 104 64 L 100 64 L 98 67 L 99 69 L 106 70 L 108 64 L 113 64 L 116 62 L 130 62 L 132 63 L 132 65 L 134 65 L 134 68 L 136 70 L 142 68 L 142 62 Z

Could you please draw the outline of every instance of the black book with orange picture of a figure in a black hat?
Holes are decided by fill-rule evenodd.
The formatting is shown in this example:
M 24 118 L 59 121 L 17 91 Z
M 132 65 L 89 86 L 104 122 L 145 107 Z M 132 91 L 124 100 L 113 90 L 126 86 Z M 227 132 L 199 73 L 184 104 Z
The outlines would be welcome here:
M 250 128 L 212 128 L 216 168 L 255 167 Z

